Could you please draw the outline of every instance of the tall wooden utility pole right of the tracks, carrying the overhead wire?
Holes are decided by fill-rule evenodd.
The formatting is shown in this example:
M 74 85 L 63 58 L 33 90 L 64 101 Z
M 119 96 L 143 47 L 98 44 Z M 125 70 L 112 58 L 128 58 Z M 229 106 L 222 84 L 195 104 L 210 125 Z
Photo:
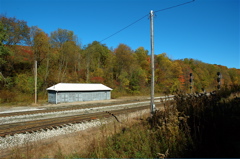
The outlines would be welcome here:
M 154 35 L 153 35 L 153 10 L 150 11 L 150 37 L 151 37 L 151 103 L 150 103 L 150 111 L 153 115 L 155 113 L 155 104 L 154 104 Z

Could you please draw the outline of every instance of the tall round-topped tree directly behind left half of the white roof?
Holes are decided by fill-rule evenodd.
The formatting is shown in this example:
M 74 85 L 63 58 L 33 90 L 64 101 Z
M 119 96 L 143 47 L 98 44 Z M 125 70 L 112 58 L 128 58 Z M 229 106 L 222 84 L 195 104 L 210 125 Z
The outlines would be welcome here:
M 51 33 L 50 44 L 54 50 L 53 52 L 56 54 L 55 81 L 76 80 L 76 71 L 79 70 L 80 65 L 80 46 L 77 42 L 77 36 L 73 31 L 58 29 Z M 70 72 L 73 72 L 73 76 L 67 76 Z

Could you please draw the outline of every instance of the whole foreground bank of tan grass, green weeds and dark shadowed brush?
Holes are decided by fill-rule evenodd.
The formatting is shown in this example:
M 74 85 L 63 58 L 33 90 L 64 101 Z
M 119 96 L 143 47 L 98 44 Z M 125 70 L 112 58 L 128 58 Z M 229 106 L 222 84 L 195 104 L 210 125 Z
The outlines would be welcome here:
M 240 87 L 177 94 L 152 118 L 111 124 L 14 149 L 12 158 L 239 157 Z

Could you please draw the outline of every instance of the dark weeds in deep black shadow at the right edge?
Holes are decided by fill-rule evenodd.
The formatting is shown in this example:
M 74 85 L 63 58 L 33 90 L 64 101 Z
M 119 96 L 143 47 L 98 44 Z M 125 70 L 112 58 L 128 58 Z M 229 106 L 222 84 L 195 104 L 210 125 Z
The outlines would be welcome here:
M 177 109 L 189 116 L 194 150 L 191 157 L 239 157 L 240 100 L 229 98 L 239 86 L 207 94 L 177 94 Z

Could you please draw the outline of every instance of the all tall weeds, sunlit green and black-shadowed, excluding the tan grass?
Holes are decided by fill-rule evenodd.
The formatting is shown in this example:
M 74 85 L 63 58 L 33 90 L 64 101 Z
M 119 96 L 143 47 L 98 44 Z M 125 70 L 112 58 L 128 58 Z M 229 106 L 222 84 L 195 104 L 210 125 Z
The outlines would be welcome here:
M 163 111 L 89 147 L 84 157 L 239 157 L 240 99 L 229 98 L 239 88 L 178 93 Z

